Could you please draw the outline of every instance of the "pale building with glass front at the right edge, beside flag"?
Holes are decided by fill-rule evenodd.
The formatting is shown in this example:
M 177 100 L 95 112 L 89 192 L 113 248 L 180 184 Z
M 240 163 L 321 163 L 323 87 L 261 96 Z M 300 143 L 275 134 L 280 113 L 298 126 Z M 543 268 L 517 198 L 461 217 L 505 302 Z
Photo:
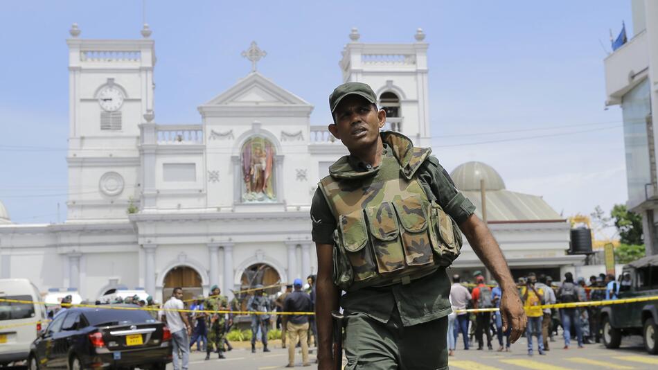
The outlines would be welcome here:
M 633 35 L 604 60 L 605 105 L 621 105 L 630 211 L 642 215 L 646 253 L 658 254 L 658 1 L 631 0 Z

